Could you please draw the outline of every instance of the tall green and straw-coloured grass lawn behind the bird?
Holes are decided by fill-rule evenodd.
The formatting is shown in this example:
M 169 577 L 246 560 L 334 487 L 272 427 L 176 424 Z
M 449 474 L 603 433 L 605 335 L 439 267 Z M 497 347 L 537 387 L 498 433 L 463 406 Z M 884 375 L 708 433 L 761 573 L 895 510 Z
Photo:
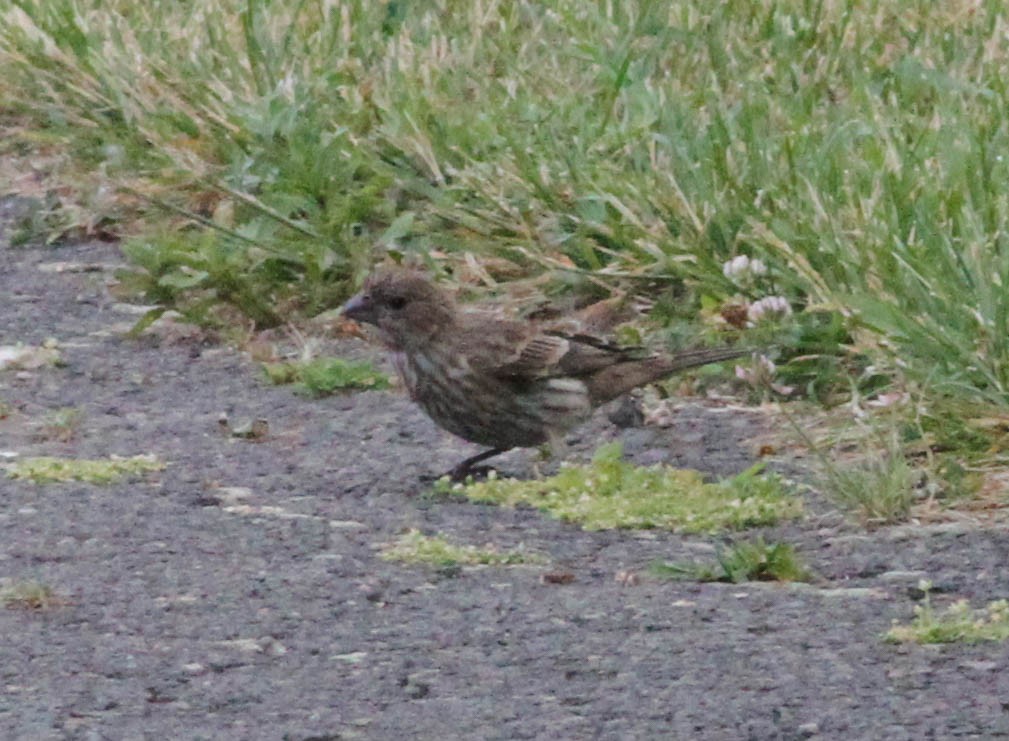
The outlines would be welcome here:
M 96 217 L 116 212 L 97 192 L 138 215 L 126 247 L 157 302 L 275 324 L 336 305 L 377 254 L 472 253 L 649 279 L 685 316 L 783 295 L 806 381 L 876 347 L 1004 407 L 1003 11 L 9 0 L 0 64 Z M 723 275 L 742 254 L 766 275 Z

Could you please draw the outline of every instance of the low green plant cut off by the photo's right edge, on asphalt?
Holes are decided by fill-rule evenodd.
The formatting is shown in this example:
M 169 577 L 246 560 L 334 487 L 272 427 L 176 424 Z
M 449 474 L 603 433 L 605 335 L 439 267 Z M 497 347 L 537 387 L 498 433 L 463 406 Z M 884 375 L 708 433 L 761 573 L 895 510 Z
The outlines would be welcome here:
M 925 593 L 914 607 L 914 619 L 908 625 L 894 623 L 886 640 L 894 643 L 981 643 L 1009 639 L 1009 601 L 996 600 L 980 610 L 967 600 L 958 600 L 944 612 L 932 608 L 931 584 L 920 585 Z

